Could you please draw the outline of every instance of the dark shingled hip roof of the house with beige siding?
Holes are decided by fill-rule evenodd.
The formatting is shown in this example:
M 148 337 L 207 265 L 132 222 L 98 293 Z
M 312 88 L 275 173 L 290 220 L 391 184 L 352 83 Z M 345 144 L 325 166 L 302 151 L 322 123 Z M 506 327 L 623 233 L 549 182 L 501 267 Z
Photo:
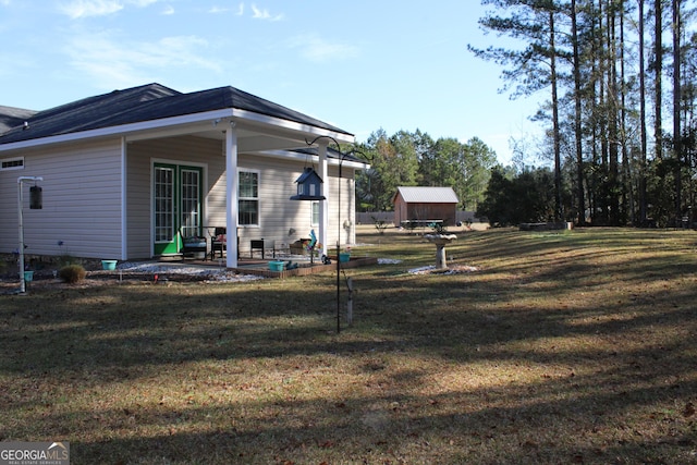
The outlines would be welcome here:
M 221 109 L 245 110 L 351 135 L 313 117 L 234 87 L 182 94 L 160 84 L 147 84 L 88 97 L 39 111 L 29 118 L 13 120 L 17 124 L 12 129 L 0 130 L 0 145 Z M 24 121 L 28 127 L 24 127 Z

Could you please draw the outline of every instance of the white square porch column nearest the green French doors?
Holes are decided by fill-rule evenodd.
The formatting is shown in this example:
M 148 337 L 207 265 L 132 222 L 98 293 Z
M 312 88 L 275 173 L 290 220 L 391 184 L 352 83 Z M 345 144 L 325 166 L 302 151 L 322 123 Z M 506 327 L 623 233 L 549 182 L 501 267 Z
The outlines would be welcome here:
M 225 130 L 225 228 L 228 257 L 225 266 L 237 268 L 237 131 L 234 121 Z

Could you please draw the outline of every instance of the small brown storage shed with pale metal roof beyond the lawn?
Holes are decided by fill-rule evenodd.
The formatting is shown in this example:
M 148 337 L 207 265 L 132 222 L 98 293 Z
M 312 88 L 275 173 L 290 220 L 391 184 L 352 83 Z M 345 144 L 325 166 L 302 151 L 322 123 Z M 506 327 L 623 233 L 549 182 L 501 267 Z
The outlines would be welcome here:
M 457 195 L 452 187 L 398 187 L 392 198 L 394 225 L 425 225 L 440 221 L 444 225 L 455 222 Z

